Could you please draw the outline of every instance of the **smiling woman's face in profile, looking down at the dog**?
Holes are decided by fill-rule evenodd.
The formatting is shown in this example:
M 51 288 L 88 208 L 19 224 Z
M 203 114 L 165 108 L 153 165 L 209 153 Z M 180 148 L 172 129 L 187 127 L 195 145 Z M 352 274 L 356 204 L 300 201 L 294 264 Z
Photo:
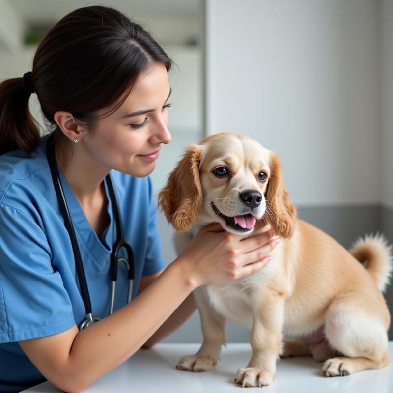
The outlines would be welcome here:
M 85 148 L 97 164 L 136 177 L 149 175 L 156 159 L 147 160 L 141 155 L 153 153 L 172 140 L 167 128 L 169 94 L 167 69 L 155 63 L 139 76 L 122 105 L 97 121 L 91 138 L 84 135 Z

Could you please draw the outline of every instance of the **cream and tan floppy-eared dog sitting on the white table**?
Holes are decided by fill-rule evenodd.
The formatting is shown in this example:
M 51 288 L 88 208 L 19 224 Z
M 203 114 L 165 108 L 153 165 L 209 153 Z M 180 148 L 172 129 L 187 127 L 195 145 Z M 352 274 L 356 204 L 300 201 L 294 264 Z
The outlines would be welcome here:
M 207 371 L 217 364 L 226 319 L 251 329 L 251 359 L 234 379 L 243 387 L 272 384 L 280 357 L 312 355 L 324 362 L 325 376 L 389 364 L 390 313 L 382 292 L 392 273 L 392 246 L 377 234 L 347 251 L 298 219 L 278 153 L 234 133 L 191 143 L 167 176 L 158 206 L 176 231 L 178 255 L 214 222 L 243 238 L 268 229 L 281 238 L 273 260 L 257 273 L 193 291 L 203 343 L 177 369 Z

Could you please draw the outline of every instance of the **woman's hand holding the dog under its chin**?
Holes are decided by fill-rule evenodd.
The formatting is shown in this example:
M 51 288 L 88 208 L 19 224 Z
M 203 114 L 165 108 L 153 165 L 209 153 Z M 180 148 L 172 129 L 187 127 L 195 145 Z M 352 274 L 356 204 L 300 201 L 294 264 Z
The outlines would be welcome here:
M 195 287 L 236 280 L 258 272 L 269 263 L 272 259 L 269 253 L 280 241 L 272 236 L 267 231 L 244 239 L 213 223 L 197 233 L 177 260 Z

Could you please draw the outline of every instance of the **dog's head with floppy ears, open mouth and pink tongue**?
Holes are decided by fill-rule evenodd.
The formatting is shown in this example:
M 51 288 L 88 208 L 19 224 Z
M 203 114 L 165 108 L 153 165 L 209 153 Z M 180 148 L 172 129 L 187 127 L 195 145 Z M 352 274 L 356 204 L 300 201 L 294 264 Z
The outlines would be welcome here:
M 248 235 L 270 224 L 276 235 L 289 238 L 296 219 L 277 153 L 232 133 L 188 145 L 158 205 L 176 231 L 219 222 L 228 232 Z

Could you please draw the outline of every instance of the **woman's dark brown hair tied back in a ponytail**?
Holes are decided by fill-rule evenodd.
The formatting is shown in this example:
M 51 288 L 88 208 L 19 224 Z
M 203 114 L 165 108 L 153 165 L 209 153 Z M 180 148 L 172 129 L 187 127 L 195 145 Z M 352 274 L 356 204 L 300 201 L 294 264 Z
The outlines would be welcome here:
M 60 19 L 44 36 L 33 59 L 31 80 L 56 139 L 63 133 L 54 119 L 57 111 L 71 112 L 89 132 L 97 111 L 124 102 L 137 77 L 155 62 L 172 60 L 142 26 L 120 11 L 93 5 Z M 28 70 L 27 70 L 28 71 Z M 31 157 L 40 142 L 38 123 L 28 106 L 30 92 L 23 77 L 0 83 L 0 154 L 21 149 Z

